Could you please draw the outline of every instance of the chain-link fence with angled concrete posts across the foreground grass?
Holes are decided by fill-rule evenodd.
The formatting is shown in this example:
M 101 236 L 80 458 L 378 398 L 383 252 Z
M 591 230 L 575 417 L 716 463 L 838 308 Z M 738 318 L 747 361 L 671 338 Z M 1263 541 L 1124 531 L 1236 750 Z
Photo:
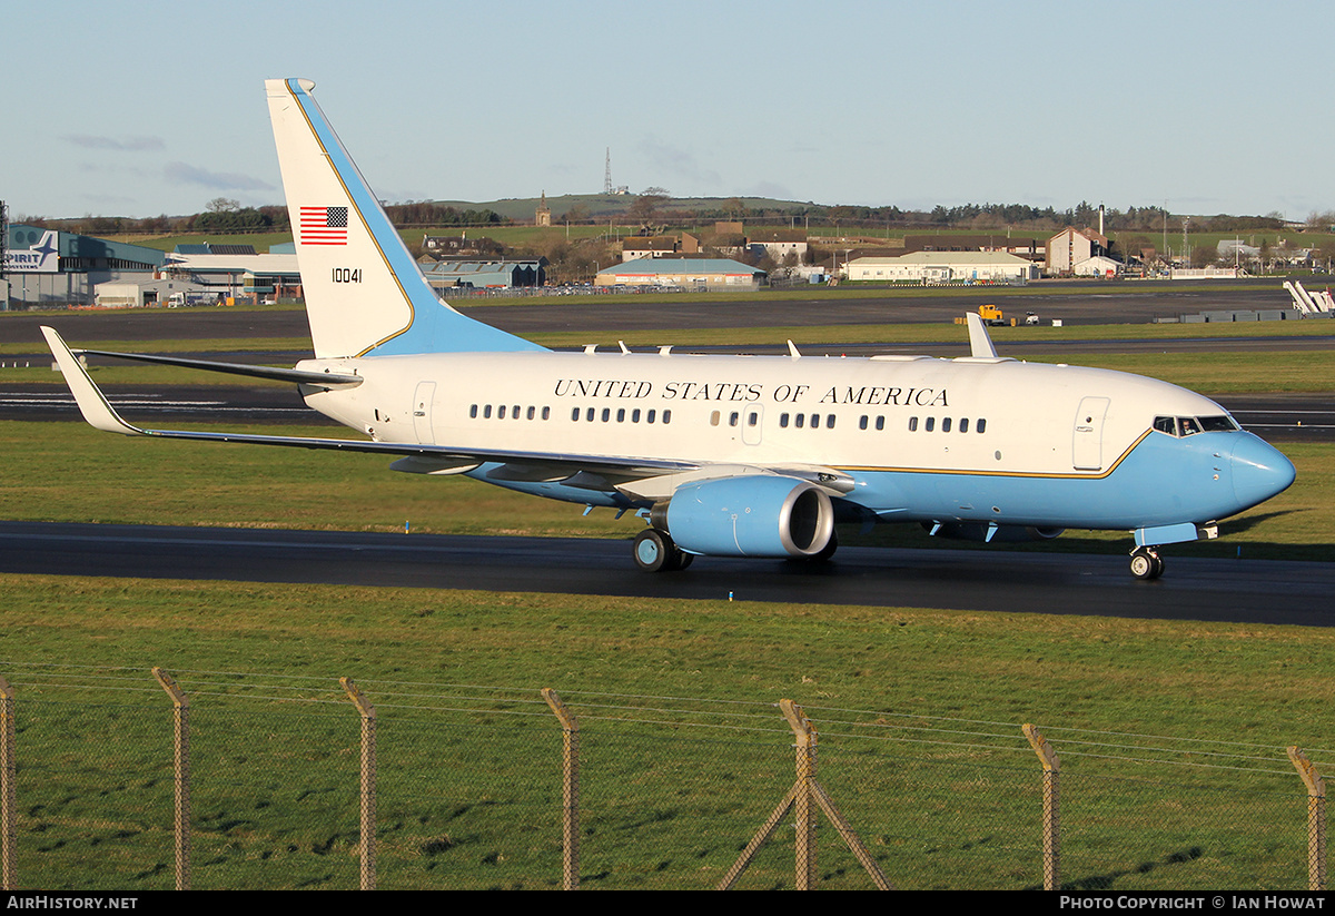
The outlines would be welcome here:
M 3 674 L 9 889 L 1326 881 L 1320 765 L 1296 748 L 789 701 Z

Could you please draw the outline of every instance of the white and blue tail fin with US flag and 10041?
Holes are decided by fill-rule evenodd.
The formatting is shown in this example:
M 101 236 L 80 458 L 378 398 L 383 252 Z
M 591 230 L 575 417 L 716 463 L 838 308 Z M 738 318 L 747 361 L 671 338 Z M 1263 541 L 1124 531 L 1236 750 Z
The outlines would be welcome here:
M 541 350 L 439 300 L 310 80 L 266 80 L 316 357 Z

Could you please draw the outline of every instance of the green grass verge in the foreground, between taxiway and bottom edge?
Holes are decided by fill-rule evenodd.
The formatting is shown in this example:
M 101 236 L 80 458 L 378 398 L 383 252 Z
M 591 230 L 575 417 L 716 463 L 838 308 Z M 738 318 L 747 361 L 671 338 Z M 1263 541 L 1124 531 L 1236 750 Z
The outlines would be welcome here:
M 1300 888 L 1282 748 L 1335 738 L 1320 629 L 35 576 L 0 577 L 0 602 L 24 887 L 171 887 L 170 702 L 150 665 L 192 697 L 196 888 L 355 887 L 339 676 L 378 709 L 383 888 L 555 885 L 541 686 L 581 716 L 586 888 L 716 883 L 792 784 L 781 697 L 821 729 L 822 785 L 902 888 L 1040 883 L 1021 722 L 1061 754 L 1067 887 Z M 1240 772 L 1259 758 L 1270 772 Z M 866 887 L 822 836 L 821 887 Z M 744 887 L 790 884 L 789 828 Z

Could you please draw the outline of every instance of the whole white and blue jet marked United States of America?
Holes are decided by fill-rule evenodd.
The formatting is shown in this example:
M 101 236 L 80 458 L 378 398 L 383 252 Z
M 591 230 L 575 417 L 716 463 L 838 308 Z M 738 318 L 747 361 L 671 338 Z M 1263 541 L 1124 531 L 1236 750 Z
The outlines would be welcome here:
M 438 299 L 312 88 L 266 83 L 315 358 L 286 370 L 84 353 L 291 381 L 368 441 L 139 429 L 44 328 L 95 427 L 382 453 L 399 471 L 633 511 L 649 571 L 697 555 L 820 561 L 838 519 L 989 542 L 1125 530 L 1131 571 L 1155 578 L 1161 545 L 1215 537 L 1218 519 L 1294 482 L 1212 401 L 999 358 L 976 315 L 959 359 L 546 350 Z

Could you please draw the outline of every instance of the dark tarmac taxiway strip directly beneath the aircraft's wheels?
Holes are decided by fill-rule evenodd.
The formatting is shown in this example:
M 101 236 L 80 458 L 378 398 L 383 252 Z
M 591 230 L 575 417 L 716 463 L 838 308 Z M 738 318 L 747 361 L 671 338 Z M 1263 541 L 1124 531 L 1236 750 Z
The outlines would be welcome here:
M 1335 563 L 1164 555 L 1168 571 L 1153 582 L 1115 555 L 870 547 L 844 547 L 820 567 L 701 557 L 649 574 L 629 539 L 0 522 L 0 573 L 1335 622 Z

